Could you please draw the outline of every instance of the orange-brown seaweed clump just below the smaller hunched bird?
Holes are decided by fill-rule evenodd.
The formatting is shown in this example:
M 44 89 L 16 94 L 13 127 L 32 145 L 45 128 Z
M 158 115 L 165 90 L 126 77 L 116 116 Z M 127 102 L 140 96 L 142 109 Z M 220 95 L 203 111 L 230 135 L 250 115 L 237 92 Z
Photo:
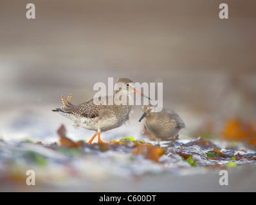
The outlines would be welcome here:
M 165 154 L 165 150 L 161 147 L 155 147 L 150 143 L 140 143 L 137 148 L 132 151 L 133 154 L 141 154 L 149 160 L 158 162 L 160 156 Z

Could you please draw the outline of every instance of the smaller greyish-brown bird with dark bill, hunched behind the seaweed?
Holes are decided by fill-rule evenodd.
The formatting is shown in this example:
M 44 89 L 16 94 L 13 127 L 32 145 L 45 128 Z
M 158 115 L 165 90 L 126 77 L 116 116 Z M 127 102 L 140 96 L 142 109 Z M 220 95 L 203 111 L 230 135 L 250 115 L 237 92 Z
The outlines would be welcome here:
M 174 140 L 169 145 L 171 146 L 178 138 L 179 130 L 185 128 L 185 123 L 174 110 L 163 108 L 161 111 L 156 111 L 151 104 L 143 106 L 142 110 L 143 115 L 139 122 L 145 117 L 145 128 L 154 135 L 158 145 L 160 145 L 160 138 L 175 136 Z

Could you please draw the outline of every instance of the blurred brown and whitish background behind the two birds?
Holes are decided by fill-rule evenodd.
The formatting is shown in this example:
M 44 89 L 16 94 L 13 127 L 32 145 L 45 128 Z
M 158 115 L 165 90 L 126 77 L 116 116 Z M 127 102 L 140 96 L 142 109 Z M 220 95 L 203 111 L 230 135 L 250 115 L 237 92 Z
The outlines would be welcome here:
M 187 126 L 180 138 L 221 133 L 230 119 L 254 125 L 256 1 L 33 0 L 35 19 L 26 19 L 28 3 L 0 1 L 1 138 L 55 141 L 63 123 L 89 140 L 93 131 L 51 109 L 61 95 L 91 99 L 109 77 L 162 82 L 163 106 Z M 221 3 L 229 19 L 219 19 Z M 106 135 L 139 138 L 141 109 Z

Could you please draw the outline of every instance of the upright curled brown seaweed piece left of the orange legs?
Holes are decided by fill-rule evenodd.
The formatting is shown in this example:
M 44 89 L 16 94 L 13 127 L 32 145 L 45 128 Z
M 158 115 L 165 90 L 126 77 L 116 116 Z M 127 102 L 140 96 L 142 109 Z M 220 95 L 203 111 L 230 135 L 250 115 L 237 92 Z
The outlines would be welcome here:
M 63 147 L 83 147 L 84 146 L 84 142 L 82 141 L 73 142 L 73 140 L 69 139 L 66 136 L 67 131 L 66 131 L 66 127 L 63 124 L 57 130 L 57 133 L 60 138 L 60 145 L 62 145 Z

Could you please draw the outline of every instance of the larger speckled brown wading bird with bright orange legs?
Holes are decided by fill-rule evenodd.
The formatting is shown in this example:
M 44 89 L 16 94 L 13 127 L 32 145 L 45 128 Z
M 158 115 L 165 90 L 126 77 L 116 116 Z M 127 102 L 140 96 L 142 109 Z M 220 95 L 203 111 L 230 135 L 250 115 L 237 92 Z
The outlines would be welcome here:
M 96 131 L 95 135 L 89 140 L 89 144 L 93 142 L 96 135 L 98 135 L 98 142 L 102 142 L 100 140 L 101 132 L 120 127 L 129 120 L 129 113 L 132 107 L 129 94 L 135 93 L 149 98 L 138 92 L 130 79 L 118 78 L 116 85 L 118 85 L 119 90 L 116 90 L 114 96 L 90 99 L 78 105 L 71 104 L 71 94 L 68 95 L 68 99 L 62 95 L 63 106 L 52 111 L 71 119 L 75 128 L 83 127 Z M 115 99 L 121 99 L 122 103 L 116 104 Z

